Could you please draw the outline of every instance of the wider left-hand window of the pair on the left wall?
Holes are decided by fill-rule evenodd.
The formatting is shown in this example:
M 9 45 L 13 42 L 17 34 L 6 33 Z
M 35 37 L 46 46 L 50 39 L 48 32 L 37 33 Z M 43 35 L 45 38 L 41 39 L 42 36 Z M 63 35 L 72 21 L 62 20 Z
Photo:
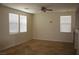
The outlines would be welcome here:
M 18 32 L 18 15 L 9 13 L 9 32 Z

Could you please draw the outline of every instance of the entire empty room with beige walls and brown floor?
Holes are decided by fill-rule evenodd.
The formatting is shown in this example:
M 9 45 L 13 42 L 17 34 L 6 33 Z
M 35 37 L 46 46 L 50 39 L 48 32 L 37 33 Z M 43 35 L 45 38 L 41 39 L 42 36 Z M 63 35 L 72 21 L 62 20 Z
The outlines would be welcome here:
M 0 55 L 78 55 L 78 3 L 1 3 Z

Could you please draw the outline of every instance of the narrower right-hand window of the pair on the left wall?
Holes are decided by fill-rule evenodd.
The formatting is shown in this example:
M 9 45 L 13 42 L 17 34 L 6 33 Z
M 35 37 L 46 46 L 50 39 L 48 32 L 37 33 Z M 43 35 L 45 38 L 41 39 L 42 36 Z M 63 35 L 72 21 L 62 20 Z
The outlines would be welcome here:
M 27 17 L 26 16 L 23 16 L 23 15 L 20 15 L 20 32 L 27 32 L 26 30 L 26 26 L 27 26 Z

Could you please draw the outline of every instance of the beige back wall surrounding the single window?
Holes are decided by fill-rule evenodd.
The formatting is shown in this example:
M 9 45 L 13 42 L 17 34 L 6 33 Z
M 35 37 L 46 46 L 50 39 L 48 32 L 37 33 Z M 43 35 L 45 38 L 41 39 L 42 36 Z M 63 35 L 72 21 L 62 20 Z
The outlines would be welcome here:
M 34 14 L 33 39 L 73 42 L 71 33 L 60 32 L 60 16 L 72 16 L 72 30 L 74 29 L 75 12 L 48 12 Z M 50 23 L 52 21 L 52 23 Z

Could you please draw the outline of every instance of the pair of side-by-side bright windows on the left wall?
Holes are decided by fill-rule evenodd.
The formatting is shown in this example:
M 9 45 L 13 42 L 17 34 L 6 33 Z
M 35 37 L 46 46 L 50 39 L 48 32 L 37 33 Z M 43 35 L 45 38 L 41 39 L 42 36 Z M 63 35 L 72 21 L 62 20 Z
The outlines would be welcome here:
M 9 13 L 9 32 L 27 32 L 27 17 Z

